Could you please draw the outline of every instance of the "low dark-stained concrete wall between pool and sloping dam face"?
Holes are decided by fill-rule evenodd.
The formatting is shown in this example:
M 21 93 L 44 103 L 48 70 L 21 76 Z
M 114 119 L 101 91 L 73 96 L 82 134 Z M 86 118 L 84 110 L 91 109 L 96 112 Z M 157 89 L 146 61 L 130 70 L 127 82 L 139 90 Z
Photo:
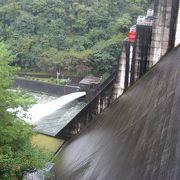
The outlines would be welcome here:
M 95 96 L 89 96 L 90 102 L 68 123 L 63 129 L 59 130 L 56 137 L 69 140 L 80 133 L 95 117 L 109 107 L 113 93 L 115 75 L 110 76 L 103 82 Z M 93 98 L 92 98 L 93 97 Z

